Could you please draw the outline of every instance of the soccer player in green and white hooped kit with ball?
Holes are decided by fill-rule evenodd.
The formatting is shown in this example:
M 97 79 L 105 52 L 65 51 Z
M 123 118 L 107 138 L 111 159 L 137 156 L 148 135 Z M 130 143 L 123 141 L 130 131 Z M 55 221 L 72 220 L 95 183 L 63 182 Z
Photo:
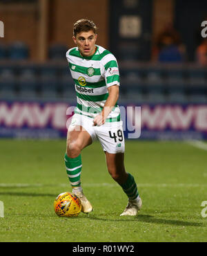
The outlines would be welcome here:
M 77 107 L 68 127 L 65 154 L 72 192 L 81 199 L 82 212 L 93 210 L 81 188 L 81 150 L 98 139 L 106 155 L 108 172 L 128 196 L 128 205 L 121 216 L 134 216 L 141 208 L 141 198 L 135 179 L 124 167 L 124 133 L 117 105 L 117 60 L 112 53 L 95 44 L 97 27 L 93 21 L 77 21 L 72 39 L 76 47 L 67 51 L 66 58 L 75 82 Z

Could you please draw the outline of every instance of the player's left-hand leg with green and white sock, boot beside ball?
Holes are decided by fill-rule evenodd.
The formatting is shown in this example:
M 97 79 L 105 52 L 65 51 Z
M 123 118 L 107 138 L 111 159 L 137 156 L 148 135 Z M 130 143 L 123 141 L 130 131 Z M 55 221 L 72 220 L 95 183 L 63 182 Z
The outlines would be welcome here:
M 72 192 L 81 200 L 81 211 L 88 213 L 92 211 L 92 205 L 86 199 L 81 188 L 81 150 L 92 143 L 88 131 L 80 125 L 68 128 L 65 164 Z

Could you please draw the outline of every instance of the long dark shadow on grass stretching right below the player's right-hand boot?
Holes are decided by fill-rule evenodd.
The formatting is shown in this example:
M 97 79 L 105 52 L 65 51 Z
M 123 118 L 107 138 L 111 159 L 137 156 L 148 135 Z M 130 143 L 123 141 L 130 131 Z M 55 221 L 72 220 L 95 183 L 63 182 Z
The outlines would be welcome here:
M 180 221 L 176 219 L 161 219 L 161 218 L 156 218 L 152 215 L 148 214 L 138 214 L 135 217 L 119 217 L 119 219 L 102 219 L 97 216 L 90 216 L 90 219 L 97 220 L 97 221 L 139 221 L 139 222 L 146 222 L 146 223 L 157 223 L 157 224 L 166 224 L 166 225 L 174 225 L 174 226 L 197 226 L 201 227 L 204 226 L 202 223 L 198 222 L 193 222 L 193 221 Z

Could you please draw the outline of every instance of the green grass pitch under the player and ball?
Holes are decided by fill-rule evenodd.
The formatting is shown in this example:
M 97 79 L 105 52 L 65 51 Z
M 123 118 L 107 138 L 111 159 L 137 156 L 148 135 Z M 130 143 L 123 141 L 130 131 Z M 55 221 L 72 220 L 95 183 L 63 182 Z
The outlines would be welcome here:
M 207 152 L 183 142 L 126 141 L 126 170 L 143 200 L 119 217 L 127 197 L 106 170 L 99 143 L 82 152 L 83 191 L 94 211 L 57 217 L 55 197 L 71 191 L 65 140 L 0 140 L 0 241 L 207 241 Z M 206 210 L 207 213 L 207 210 Z

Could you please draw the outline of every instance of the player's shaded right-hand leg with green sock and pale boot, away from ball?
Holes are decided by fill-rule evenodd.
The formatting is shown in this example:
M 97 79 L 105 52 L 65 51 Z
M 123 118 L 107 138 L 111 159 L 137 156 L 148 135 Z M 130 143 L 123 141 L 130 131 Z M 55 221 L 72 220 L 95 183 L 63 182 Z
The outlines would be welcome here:
M 112 179 L 117 181 L 117 183 L 124 190 L 128 196 L 128 205 L 126 209 L 121 214 L 135 216 L 137 212 L 141 209 L 141 198 L 139 197 L 139 192 L 137 190 L 137 183 L 135 182 L 132 174 L 127 173 L 124 167 L 124 153 L 111 154 L 105 152 L 106 154 L 106 164 L 108 167 L 108 172 L 112 176 Z

